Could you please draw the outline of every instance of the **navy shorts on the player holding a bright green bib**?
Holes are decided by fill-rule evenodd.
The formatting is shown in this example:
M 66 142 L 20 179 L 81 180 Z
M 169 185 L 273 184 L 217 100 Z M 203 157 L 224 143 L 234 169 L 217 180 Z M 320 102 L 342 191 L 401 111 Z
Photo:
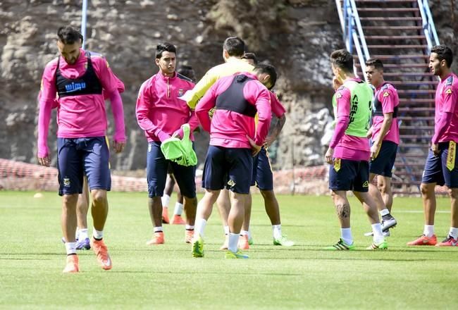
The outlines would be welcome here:
M 187 198 L 196 197 L 196 166 L 181 166 L 174 161 L 167 160 L 161 151 L 161 142 L 148 143 L 148 196 L 150 198 L 163 196 L 169 166 L 180 187 L 181 194 Z

